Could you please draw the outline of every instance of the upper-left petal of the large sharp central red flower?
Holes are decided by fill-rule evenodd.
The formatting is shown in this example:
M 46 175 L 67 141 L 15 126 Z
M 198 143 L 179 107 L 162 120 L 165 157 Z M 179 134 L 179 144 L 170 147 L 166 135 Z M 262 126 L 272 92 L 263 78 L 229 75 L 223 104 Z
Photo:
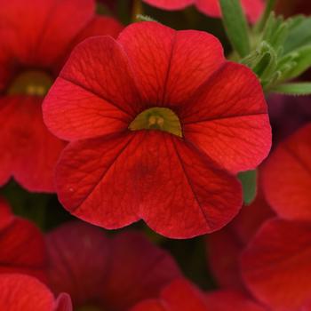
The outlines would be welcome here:
M 128 127 L 140 99 L 120 44 L 86 39 L 71 54 L 44 100 L 44 122 L 64 140 L 81 140 Z

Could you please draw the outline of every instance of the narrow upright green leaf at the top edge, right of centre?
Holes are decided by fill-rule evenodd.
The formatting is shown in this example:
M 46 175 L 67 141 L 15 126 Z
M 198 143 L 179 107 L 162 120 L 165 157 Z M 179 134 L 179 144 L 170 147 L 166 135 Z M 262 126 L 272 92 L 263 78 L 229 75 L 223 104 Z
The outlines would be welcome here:
M 220 0 L 227 36 L 241 57 L 251 52 L 248 26 L 240 0 Z

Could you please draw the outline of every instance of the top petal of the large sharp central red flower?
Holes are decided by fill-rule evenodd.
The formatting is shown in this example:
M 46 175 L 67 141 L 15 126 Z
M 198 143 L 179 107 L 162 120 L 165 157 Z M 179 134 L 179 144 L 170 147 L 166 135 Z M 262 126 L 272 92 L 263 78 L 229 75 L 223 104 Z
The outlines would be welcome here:
M 149 106 L 185 102 L 225 61 L 219 40 L 205 32 L 174 31 L 156 22 L 135 23 L 118 38 Z

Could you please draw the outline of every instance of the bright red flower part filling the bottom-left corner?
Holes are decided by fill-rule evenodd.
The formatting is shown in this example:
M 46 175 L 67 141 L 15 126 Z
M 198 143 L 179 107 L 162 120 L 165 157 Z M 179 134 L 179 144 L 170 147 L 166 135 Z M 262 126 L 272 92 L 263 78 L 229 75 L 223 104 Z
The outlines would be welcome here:
M 0 275 L 0 310 L 72 311 L 67 294 L 57 300 L 36 278 L 28 275 Z

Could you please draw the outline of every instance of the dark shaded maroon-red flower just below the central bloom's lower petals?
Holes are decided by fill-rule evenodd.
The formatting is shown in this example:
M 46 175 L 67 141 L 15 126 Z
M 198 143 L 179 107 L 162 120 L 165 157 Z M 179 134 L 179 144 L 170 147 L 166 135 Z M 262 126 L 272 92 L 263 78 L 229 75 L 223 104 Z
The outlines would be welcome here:
M 180 276 L 167 252 L 135 232 L 109 239 L 99 227 L 73 222 L 47 235 L 47 244 L 51 288 L 68 292 L 77 308 L 125 311 Z

